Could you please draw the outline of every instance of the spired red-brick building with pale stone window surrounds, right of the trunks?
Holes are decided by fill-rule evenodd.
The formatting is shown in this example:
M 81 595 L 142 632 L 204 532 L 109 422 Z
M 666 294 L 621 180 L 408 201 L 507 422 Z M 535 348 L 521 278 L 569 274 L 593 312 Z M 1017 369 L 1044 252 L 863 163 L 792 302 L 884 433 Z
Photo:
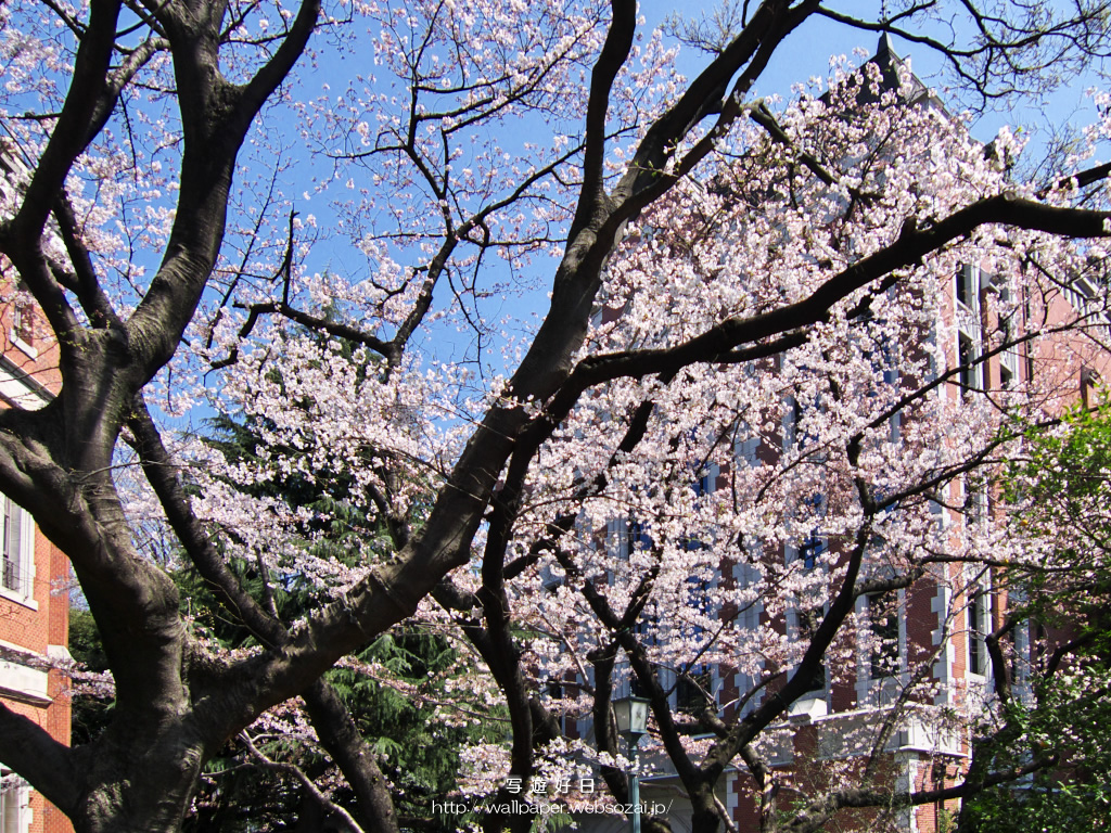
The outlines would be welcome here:
M 880 41 L 877 56 L 872 59 L 884 81 L 891 83 L 903 67 L 901 59 L 891 50 L 884 38 Z M 903 87 L 908 96 L 908 87 Z M 935 108 L 944 113 L 939 101 L 925 87 L 911 77 L 909 86 L 910 103 Z M 999 397 L 1007 391 L 1024 385 L 1037 377 L 1039 388 L 1059 392 L 1060 402 L 1083 401 L 1090 403 L 1101 379 L 1108 378 L 1111 365 L 1105 351 L 1091 349 L 1092 340 L 1065 332 L 1055 340 L 1015 345 L 1010 349 L 989 352 L 989 333 L 1004 331 L 1009 325 L 995 317 L 993 310 L 999 301 L 1008 301 L 1013 292 L 1013 281 L 1007 275 L 993 274 L 987 264 L 970 263 L 960 267 L 953 274 L 939 278 L 937 285 L 927 292 L 935 292 L 937 320 L 922 333 L 922 340 L 913 345 L 895 345 L 898 349 L 929 351 L 939 357 L 931 370 L 931 377 L 945 380 L 942 395 L 960 400 L 963 397 Z M 1040 314 L 1043 325 L 1052 329 L 1057 324 L 1074 320 L 1078 315 L 1091 315 L 1089 330 L 1101 328 L 1095 339 L 1108 342 L 1111 328 L 1108 327 L 1105 311 L 1101 311 L 1101 293 L 1104 290 L 1083 279 L 1075 279 L 1063 287 L 1052 299 L 1040 299 L 1044 304 Z M 1017 304 L 1013 314 L 1024 312 L 1022 303 Z M 620 317 L 619 310 L 602 310 L 603 321 Z M 1023 321 L 1023 328 L 1037 329 Z M 775 372 L 767 367 L 768 372 Z M 878 370 L 879 372 L 879 370 Z M 883 370 L 887 373 L 887 369 Z M 917 380 L 918 382 L 929 380 Z M 913 385 L 912 385 L 913 387 Z M 898 438 L 900 414 L 892 418 L 891 435 Z M 724 484 L 720 476 L 731 466 L 774 465 L 784 454 L 800 443 L 800 405 L 788 399 L 783 403 L 782 423 L 778 434 L 762 439 L 752 438 L 734 449 L 731 460 L 719 460 L 714 473 L 708 475 L 698 489 L 712 491 L 714 480 Z M 898 442 L 898 440 L 895 440 Z M 995 495 L 975 479 L 954 478 L 943 489 L 943 494 L 934 504 L 937 528 L 941 534 L 958 536 L 971 524 L 992 523 Z M 820 503 L 822 495 L 815 495 Z M 820 515 L 821 512 L 814 512 Z M 609 548 L 618 559 L 627 559 L 634 543 L 632 539 L 643 535 L 634 524 L 617 519 L 605 531 Z M 948 533 L 945 531 L 949 531 Z M 619 541 L 617 545 L 614 541 Z M 805 564 L 807 570 L 835 570 L 840 565 L 831 539 L 823 536 L 820 521 L 812 533 L 800 536 L 797 544 L 771 548 L 764 558 L 780 563 Z M 822 558 L 822 556 L 825 558 Z M 830 558 L 832 555 L 832 558 Z M 824 564 L 824 566 L 823 566 Z M 721 563 L 717 582 L 728 586 L 744 586 L 750 583 L 743 564 Z M 854 736 L 881 737 L 878 726 L 889 724 L 889 731 L 881 737 L 881 750 L 875 755 L 870 781 L 895 792 L 922 792 L 959 783 L 968 769 L 971 757 L 971 736 L 968 725 L 947 719 L 960 712 L 972 712 L 978 704 L 992 697 L 992 670 L 988 648 L 984 642 L 1002 621 L 1008 611 L 1005 576 L 984 564 L 943 564 L 897 593 L 861 594 L 855 600 L 854 616 L 857 631 L 845 628 L 831 646 L 830 654 L 842 658 L 841 668 L 823 665 L 813 675 L 812 688 L 794 700 L 787 713 L 787 720 L 773 725 L 768 732 L 774 739 L 773 749 L 767 755 L 768 764 L 797 790 L 785 791 L 780 810 L 790 806 L 794 795 L 821 794 L 831 787 L 831 773 L 853 772 L 862 769 L 871 750 L 861 751 L 852 745 Z M 770 626 L 785 640 L 805 641 L 808 632 L 817 628 L 821 610 L 788 609 L 768 613 L 760 603 L 741 612 L 750 620 L 750 625 Z M 722 613 L 723 618 L 727 615 Z M 735 611 L 728 615 L 737 615 Z M 809 616 L 809 619 L 808 619 Z M 812 621 L 811 621 L 812 620 Z M 1013 631 L 1011 650 L 1015 665 L 1033 662 L 1031 646 L 1044 633 L 1038 633 L 1038 625 L 1027 622 Z M 844 658 L 849 658 L 845 660 Z M 678 679 L 668 670 L 658 673 L 663 689 L 672 691 L 672 706 L 677 711 L 697 714 L 707 702 L 723 710 L 727 717 L 737 716 L 733 711 L 742 702 L 741 714 L 758 707 L 772 695 L 778 685 L 771 684 L 751 699 L 745 694 L 753 690 L 754 679 L 723 665 L 705 665 L 692 670 L 691 682 Z M 919 679 L 915 675 L 921 675 Z M 915 684 L 925 685 L 915 694 L 901 700 L 901 692 L 912 690 Z M 1022 672 L 1015 672 L 1015 683 L 1021 688 Z M 701 692 L 699 691 L 701 689 Z M 637 694 L 635 685 L 623 685 L 614 696 Z M 689 703 L 684 700 L 690 701 Z M 574 727 L 574 732 L 589 735 L 589 721 Z M 670 762 L 662 754 L 648 755 L 648 763 L 655 770 L 654 775 L 641 783 L 642 800 L 671 802 L 669 821 L 674 831 L 690 830 L 690 805 L 685 801 L 682 785 L 673 773 Z M 741 833 L 760 829 L 758 807 L 759 790 L 751 775 L 740 764 L 727 771 L 718 787 L 720 803 L 729 810 L 735 829 Z M 938 833 L 949 829 L 959 812 L 957 800 L 938 801 L 918 806 L 891 810 L 844 811 L 837 816 L 830 829 L 865 831 L 873 829 L 875 816 L 888 813 L 888 823 L 901 831 L 914 833 Z M 619 831 L 624 829 L 622 820 L 587 822 L 591 830 Z M 835 827 L 834 827 L 835 825 Z

